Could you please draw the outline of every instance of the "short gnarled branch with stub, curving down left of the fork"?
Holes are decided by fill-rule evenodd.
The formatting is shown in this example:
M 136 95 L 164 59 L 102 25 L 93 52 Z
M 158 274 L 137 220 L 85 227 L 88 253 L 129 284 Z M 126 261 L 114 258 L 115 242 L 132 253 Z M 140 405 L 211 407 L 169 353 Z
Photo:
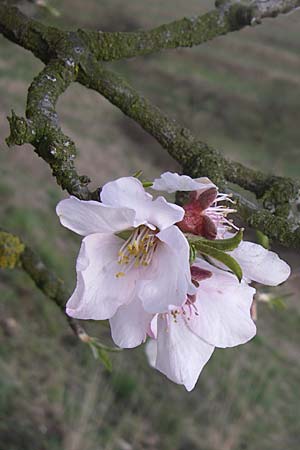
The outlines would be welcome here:
M 51 167 L 57 183 L 81 199 L 92 198 L 89 179 L 79 176 L 74 160 L 76 147 L 59 125 L 55 107 L 59 96 L 76 80 L 81 47 L 77 36 L 56 43 L 55 58 L 33 80 L 28 90 L 26 119 L 14 113 L 9 118 L 11 134 L 7 144 L 30 143 Z

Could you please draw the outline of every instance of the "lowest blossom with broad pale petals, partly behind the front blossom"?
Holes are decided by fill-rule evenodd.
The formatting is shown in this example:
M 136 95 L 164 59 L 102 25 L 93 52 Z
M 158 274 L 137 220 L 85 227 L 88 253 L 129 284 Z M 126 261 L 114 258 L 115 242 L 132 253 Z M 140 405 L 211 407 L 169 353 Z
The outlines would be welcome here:
M 148 334 L 153 339 L 146 346 L 149 363 L 188 391 L 215 347 L 244 344 L 256 333 L 250 315 L 255 289 L 203 260 L 197 259 L 195 266 L 212 276 L 200 280 L 196 296 L 182 307 L 170 307 L 152 319 Z M 126 333 L 128 339 L 129 328 Z

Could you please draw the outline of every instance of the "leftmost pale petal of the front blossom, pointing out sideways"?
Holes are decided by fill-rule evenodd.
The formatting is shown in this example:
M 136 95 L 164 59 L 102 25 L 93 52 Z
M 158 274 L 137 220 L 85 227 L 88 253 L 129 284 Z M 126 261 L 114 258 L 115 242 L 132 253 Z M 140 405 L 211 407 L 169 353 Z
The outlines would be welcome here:
M 76 197 L 62 200 L 56 207 L 61 224 L 82 236 L 93 233 L 115 233 L 133 226 L 135 212 L 129 208 L 113 208 L 94 200 Z

